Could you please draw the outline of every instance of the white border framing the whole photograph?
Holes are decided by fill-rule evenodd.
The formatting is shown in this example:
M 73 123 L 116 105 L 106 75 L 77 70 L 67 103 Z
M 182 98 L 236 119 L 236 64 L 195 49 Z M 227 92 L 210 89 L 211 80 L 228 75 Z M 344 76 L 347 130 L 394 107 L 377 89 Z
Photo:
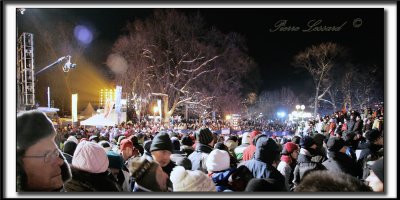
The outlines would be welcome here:
M 112 3 L 82 3 L 82 4 L 71 4 L 71 3 L 56 3 L 56 4 L 44 4 L 44 3 L 12 3 L 11 1 L 4 3 L 4 66 L 3 80 L 5 80 L 5 113 L 3 114 L 3 120 L 5 124 L 5 130 L 3 132 L 3 163 L 5 163 L 3 174 L 3 189 L 4 197 L 6 198 L 68 198 L 70 194 L 59 194 L 59 193 L 40 193 L 39 195 L 24 194 L 20 195 L 16 193 L 16 8 L 384 8 L 385 10 L 385 162 L 386 162 L 386 174 L 385 174 L 385 194 L 371 194 L 371 193 L 358 193 L 343 194 L 346 198 L 396 198 L 397 197 L 397 5 L 393 1 L 391 3 L 296 3 L 296 4 L 273 4 L 273 3 L 254 3 L 254 4 L 112 4 Z M 365 41 L 368 42 L 368 41 Z M 5 149 L 4 149 L 5 147 Z M 249 193 L 207 193 L 202 195 L 199 193 L 185 193 L 185 194 L 118 194 L 114 197 L 117 198 L 143 198 L 143 197 L 161 197 L 161 198 L 190 198 L 194 196 L 204 196 L 204 198 L 215 198 L 215 197 L 229 197 L 229 198 L 331 198 L 334 196 L 340 196 L 337 193 L 318 193 L 318 194 L 299 194 L 299 193 L 272 193 L 272 194 L 249 194 Z M 110 198 L 112 194 L 104 195 L 100 193 L 93 193 L 88 195 L 79 195 L 83 198 Z

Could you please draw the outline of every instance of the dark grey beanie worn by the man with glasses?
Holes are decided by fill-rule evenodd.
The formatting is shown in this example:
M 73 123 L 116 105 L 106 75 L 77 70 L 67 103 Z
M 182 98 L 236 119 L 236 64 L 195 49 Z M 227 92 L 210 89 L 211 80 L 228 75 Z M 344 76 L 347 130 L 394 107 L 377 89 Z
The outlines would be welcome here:
M 40 111 L 23 112 L 17 116 L 17 150 L 26 150 L 39 140 L 56 134 L 53 123 Z

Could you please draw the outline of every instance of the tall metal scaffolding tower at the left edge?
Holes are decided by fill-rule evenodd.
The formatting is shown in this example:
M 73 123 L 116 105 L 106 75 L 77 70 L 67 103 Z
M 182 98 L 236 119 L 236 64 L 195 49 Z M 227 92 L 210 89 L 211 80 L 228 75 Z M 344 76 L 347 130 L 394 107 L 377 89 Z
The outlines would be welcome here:
M 17 110 L 35 107 L 34 64 L 33 34 L 22 33 L 17 46 Z

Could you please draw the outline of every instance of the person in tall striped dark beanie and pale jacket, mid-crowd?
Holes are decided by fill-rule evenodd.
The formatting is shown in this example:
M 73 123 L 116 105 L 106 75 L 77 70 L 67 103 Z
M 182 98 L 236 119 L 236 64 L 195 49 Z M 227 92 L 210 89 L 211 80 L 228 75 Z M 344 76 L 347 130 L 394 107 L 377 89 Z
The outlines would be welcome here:
M 192 162 L 192 170 L 200 170 L 207 173 L 206 160 L 208 154 L 213 150 L 213 134 L 208 128 L 200 128 L 196 132 L 196 149 L 189 155 Z

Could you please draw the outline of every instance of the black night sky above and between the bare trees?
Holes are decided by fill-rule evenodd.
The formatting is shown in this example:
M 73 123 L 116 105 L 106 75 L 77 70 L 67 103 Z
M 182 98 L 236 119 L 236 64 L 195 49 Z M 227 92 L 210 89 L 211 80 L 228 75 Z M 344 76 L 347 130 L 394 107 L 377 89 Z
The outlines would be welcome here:
M 384 68 L 383 8 L 189 8 L 179 10 L 185 13 L 200 12 L 208 27 L 214 26 L 224 33 L 237 32 L 243 35 L 247 40 L 249 55 L 259 66 L 262 78 L 260 90 L 275 90 L 287 86 L 298 94 L 313 95 L 313 83 L 308 72 L 301 68 L 294 68 L 291 63 L 297 53 L 322 42 L 335 42 L 348 47 L 351 60 L 360 64 L 360 67 L 377 65 L 382 71 Z M 34 13 L 31 12 L 31 14 Z M 40 9 L 40 13 L 43 25 L 50 21 L 69 20 L 76 25 L 83 24 L 91 27 L 94 30 L 94 39 L 84 50 L 83 56 L 95 63 L 100 71 L 111 74 L 105 61 L 111 52 L 112 44 L 123 33 L 123 27 L 128 21 L 145 19 L 153 13 L 153 10 L 142 8 Z M 28 16 L 29 10 L 23 16 L 24 18 L 19 18 L 20 32 L 32 31 Z M 287 26 L 297 26 L 300 29 L 292 32 L 279 30 L 272 32 L 271 30 L 275 29 L 275 24 L 279 20 L 287 20 Z M 323 26 L 337 27 L 345 22 L 346 24 L 336 32 L 302 32 L 308 29 L 307 23 L 310 20 L 322 20 L 320 25 Z M 35 34 L 40 34 L 40 32 Z M 44 66 L 45 61 L 39 59 L 37 64 Z M 79 63 L 77 64 L 79 67 Z

